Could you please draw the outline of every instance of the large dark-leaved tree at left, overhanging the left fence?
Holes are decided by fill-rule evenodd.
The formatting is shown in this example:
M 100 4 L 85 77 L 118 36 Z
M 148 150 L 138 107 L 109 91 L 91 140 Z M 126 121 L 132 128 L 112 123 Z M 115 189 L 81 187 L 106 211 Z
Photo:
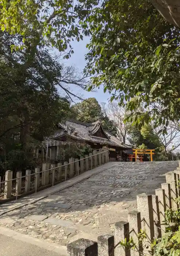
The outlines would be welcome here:
M 55 87 L 61 77 L 61 64 L 43 47 L 11 52 L 12 40 L 1 34 L 5 54 L 0 62 L 0 139 L 11 136 L 15 129 L 26 150 L 30 136 L 42 140 L 54 131 L 70 104 Z

